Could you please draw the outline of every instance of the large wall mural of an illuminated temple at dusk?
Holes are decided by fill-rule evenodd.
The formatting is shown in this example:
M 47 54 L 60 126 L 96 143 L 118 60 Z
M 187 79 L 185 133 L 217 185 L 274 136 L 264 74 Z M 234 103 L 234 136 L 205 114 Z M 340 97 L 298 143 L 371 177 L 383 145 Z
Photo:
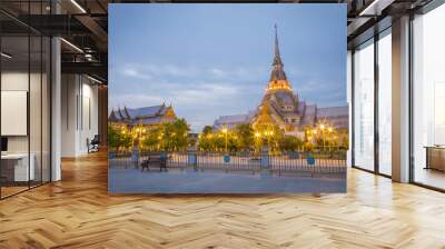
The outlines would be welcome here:
M 345 4 L 110 4 L 111 193 L 345 192 Z

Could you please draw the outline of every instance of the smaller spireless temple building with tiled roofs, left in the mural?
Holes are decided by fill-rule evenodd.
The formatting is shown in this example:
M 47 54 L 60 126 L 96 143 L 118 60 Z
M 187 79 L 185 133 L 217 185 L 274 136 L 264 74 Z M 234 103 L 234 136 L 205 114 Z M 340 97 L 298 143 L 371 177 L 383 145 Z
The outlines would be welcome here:
M 128 127 L 154 127 L 165 122 L 174 122 L 176 119 L 177 117 L 171 104 L 166 106 L 165 103 L 135 109 L 127 107 L 118 108 L 117 110 L 111 110 L 108 117 L 108 121 L 111 124 L 125 124 Z

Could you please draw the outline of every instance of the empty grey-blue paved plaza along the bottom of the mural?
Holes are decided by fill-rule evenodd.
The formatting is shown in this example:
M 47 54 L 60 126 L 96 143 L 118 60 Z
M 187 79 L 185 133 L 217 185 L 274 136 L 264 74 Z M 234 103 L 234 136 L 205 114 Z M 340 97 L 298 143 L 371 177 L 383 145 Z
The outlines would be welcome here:
M 168 172 L 110 168 L 110 193 L 286 193 L 346 192 L 346 173 L 276 175 L 221 170 L 169 169 Z

